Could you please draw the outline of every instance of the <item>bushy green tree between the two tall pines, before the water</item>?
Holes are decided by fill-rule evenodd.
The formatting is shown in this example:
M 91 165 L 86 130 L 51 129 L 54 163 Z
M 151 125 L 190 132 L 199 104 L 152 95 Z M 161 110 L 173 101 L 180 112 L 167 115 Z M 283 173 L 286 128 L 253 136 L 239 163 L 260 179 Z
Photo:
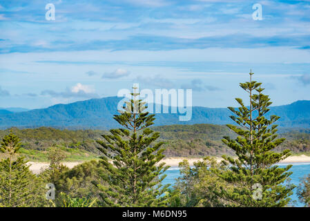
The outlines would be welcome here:
M 186 207 L 222 207 L 229 204 L 215 193 L 221 188 L 231 188 L 227 182 L 218 177 L 213 170 L 225 168 L 212 157 L 205 157 L 191 167 L 187 160 L 180 163 L 180 174 L 174 186 L 171 206 Z

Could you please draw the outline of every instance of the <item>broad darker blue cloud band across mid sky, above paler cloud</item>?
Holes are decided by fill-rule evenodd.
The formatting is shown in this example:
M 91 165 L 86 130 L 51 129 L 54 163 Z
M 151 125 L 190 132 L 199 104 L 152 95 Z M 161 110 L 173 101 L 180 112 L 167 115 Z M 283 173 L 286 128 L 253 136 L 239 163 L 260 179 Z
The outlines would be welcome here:
M 124 39 L 107 39 L 79 42 L 72 45 L 51 44 L 50 47 L 29 44 L 12 44 L 0 48 L 0 54 L 11 52 L 56 52 L 83 50 L 177 50 L 204 48 L 263 48 L 295 47 L 309 50 L 309 34 L 254 36 L 249 34 L 213 35 L 207 37 L 170 37 L 159 35 L 133 35 Z

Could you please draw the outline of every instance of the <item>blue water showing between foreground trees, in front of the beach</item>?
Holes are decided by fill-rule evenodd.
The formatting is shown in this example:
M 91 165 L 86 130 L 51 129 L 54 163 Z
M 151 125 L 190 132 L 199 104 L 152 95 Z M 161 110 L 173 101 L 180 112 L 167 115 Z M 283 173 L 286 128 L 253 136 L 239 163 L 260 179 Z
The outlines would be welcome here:
M 287 166 L 288 164 L 278 164 L 278 165 L 280 167 L 284 167 L 284 166 Z M 298 164 L 292 164 L 292 165 L 293 166 L 289 170 L 293 172 L 293 174 L 290 176 L 291 183 L 298 186 L 298 184 L 300 183 L 300 178 L 310 173 L 310 163 L 307 163 L 307 164 L 298 163 Z M 163 183 L 173 185 L 175 183 L 175 179 L 180 176 L 180 170 L 178 169 L 178 167 L 171 167 L 170 169 L 168 169 L 168 171 L 166 171 L 166 174 L 167 174 L 167 177 L 165 178 Z M 303 206 L 303 204 L 298 202 L 298 196 L 296 195 L 296 191 L 297 190 L 295 188 L 293 191 L 294 194 L 291 195 L 291 199 L 297 201 L 297 203 L 294 204 L 294 206 Z

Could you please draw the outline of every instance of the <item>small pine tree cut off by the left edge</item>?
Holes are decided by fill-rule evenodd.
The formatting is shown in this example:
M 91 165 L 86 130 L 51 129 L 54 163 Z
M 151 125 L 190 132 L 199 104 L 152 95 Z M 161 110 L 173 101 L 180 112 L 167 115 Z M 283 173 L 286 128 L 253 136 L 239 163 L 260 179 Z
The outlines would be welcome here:
M 31 173 L 23 157 L 15 159 L 20 147 L 21 140 L 12 132 L 3 137 L 0 151 L 8 157 L 0 161 L 1 207 L 34 206 L 42 202 L 37 177 Z

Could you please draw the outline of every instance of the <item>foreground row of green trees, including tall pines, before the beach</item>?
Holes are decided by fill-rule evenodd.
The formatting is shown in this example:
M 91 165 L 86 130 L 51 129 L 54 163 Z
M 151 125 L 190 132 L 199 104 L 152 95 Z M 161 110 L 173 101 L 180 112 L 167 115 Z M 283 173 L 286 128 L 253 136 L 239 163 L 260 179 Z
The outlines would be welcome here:
M 165 142 L 151 127 L 155 115 L 145 111 L 146 104 L 133 88 L 133 99 L 114 115 L 121 127 L 96 141 L 100 160 L 68 169 L 61 164 L 66 154 L 54 146 L 48 151 L 48 169 L 35 175 L 17 155 L 20 138 L 12 132 L 5 135 L 0 147 L 6 156 L 0 161 L 0 206 L 290 206 L 296 188 L 287 182 L 291 165 L 275 164 L 291 151 L 274 151 L 285 140 L 278 137 L 275 125 L 280 117 L 265 117 L 271 101 L 252 75 L 240 84 L 249 104 L 236 98 L 240 107 L 229 107 L 235 124 L 227 125 L 234 135 L 222 138 L 236 157 L 223 155 L 222 162 L 205 157 L 193 167 L 185 160 L 176 184 L 163 185 L 168 169 L 161 162 Z M 298 187 L 307 206 L 309 183 L 310 175 Z

